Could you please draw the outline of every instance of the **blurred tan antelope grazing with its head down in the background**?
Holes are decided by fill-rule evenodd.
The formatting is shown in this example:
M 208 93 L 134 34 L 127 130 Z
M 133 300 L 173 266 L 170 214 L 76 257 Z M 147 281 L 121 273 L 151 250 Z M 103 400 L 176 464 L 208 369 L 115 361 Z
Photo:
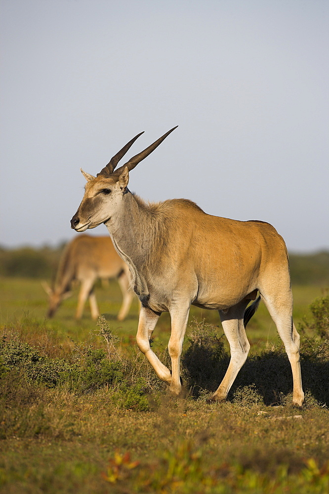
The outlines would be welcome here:
M 62 300 L 71 295 L 73 281 L 81 283 L 76 319 L 81 319 L 83 307 L 89 298 L 91 317 L 97 319 L 99 310 L 93 286 L 97 278 L 117 278 L 123 294 L 118 314 L 119 321 L 126 317 L 133 292 L 129 289 L 129 268 L 117 254 L 110 237 L 82 235 L 70 242 L 61 256 L 54 288 L 43 284 L 49 295 L 47 317 L 52 317 Z

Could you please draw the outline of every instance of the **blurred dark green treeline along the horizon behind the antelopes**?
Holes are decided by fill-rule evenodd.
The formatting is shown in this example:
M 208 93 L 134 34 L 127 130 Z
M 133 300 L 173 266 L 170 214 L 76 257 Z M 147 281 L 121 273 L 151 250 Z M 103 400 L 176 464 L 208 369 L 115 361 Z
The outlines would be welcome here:
M 52 279 L 65 244 L 58 247 L 0 247 L 0 276 Z M 294 285 L 329 287 L 329 251 L 313 254 L 289 254 L 291 281 Z

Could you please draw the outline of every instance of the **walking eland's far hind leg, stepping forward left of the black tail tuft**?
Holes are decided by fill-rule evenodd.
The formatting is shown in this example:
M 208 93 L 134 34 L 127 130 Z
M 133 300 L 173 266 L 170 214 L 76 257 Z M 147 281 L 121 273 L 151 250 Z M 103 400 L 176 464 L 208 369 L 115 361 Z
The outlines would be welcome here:
M 250 344 L 244 326 L 244 314 L 248 301 L 242 300 L 239 304 L 227 311 L 218 311 L 222 327 L 230 345 L 231 360 L 224 378 L 210 400 L 224 401 L 234 383 L 238 372 L 247 360 Z

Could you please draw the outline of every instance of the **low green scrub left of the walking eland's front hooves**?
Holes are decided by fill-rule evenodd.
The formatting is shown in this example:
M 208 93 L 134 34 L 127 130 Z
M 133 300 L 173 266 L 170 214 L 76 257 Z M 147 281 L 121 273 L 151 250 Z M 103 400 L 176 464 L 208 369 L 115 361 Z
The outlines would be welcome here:
M 113 401 L 127 410 L 149 410 L 147 395 L 152 386 L 141 376 L 143 367 L 139 359 L 109 360 L 103 349 L 82 345 L 75 346 L 71 359 L 52 359 L 42 356 L 15 333 L 3 336 L 0 344 L 3 380 L 8 372 L 14 372 L 25 383 L 43 384 L 47 388 L 64 386 L 76 394 L 110 387 Z

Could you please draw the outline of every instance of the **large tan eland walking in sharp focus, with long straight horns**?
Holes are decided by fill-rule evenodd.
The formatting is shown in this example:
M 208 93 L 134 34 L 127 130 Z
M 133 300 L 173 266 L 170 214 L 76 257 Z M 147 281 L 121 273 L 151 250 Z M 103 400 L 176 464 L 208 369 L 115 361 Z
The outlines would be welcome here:
M 146 204 L 127 189 L 129 171 L 172 130 L 116 171 L 119 160 L 141 134 L 129 141 L 96 177 L 81 170 L 87 183 L 71 226 L 77 232 L 101 223 L 107 226 L 114 246 L 129 266 L 134 290 L 142 303 L 138 346 L 173 395 L 182 390 L 179 360 L 190 305 L 219 311 L 231 360 L 212 399 L 225 400 L 247 359 L 250 345 L 245 326 L 259 303 L 259 291 L 286 347 L 293 377 L 293 404 L 301 407 L 304 393 L 299 335 L 292 322 L 288 254 L 282 237 L 262 221 L 211 216 L 185 199 Z M 170 173 L 174 179 L 171 166 Z M 209 168 L 204 173 L 213 180 Z M 250 300 L 255 301 L 247 308 Z M 150 347 L 150 337 L 164 311 L 171 317 L 171 371 Z

